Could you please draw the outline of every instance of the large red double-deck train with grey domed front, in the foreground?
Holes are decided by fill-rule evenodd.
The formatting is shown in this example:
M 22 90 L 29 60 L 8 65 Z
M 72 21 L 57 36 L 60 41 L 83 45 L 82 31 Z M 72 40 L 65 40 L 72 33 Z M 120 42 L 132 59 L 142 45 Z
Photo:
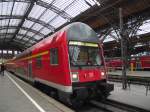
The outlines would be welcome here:
M 86 24 L 72 23 L 7 62 L 7 69 L 52 88 L 69 103 L 108 96 L 103 50 Z M 50 91 L 51 92 L 51 91 Z

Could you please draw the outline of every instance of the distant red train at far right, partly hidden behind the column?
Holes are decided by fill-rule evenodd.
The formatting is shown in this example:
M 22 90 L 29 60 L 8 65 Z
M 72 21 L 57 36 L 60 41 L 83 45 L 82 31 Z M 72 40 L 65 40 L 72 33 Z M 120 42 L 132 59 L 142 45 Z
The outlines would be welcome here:
M 134 70 L 150 70 L 150 56 L 131 57 L 131 60 L 128 61 L 128 65 L 129 68 L 133 66 Z M 107 59 L 106 66 L 110 69 L 121 69 L 121 58 Z

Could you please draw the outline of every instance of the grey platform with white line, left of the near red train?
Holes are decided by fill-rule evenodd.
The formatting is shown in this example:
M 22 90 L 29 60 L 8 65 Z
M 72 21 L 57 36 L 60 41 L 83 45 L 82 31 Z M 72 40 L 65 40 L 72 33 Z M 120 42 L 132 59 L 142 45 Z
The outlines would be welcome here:
M 0 112 L 73 112 L 31 85 L 5 72 L 0 75 Z

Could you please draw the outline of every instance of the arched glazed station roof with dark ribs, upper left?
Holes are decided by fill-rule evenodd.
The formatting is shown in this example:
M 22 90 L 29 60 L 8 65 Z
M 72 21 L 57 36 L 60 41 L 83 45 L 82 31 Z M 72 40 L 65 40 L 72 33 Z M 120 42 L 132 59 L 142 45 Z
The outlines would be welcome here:
M 96 5 L 96 0 L 0 0 L 0 46 L 24 50 Z

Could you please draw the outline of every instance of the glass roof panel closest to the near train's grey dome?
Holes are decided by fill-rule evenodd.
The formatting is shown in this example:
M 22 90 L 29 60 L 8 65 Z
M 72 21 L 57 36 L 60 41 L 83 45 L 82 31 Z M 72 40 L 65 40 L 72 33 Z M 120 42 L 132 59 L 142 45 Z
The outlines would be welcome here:
M 63 25 L 66 22 L 67 22 L 66 19 L 62 18 L 61 16 L 58 16 L 56 19 L 50 22 L 50 24 L 54 26 L 55 28 L 58 28 L 59 26 Z

